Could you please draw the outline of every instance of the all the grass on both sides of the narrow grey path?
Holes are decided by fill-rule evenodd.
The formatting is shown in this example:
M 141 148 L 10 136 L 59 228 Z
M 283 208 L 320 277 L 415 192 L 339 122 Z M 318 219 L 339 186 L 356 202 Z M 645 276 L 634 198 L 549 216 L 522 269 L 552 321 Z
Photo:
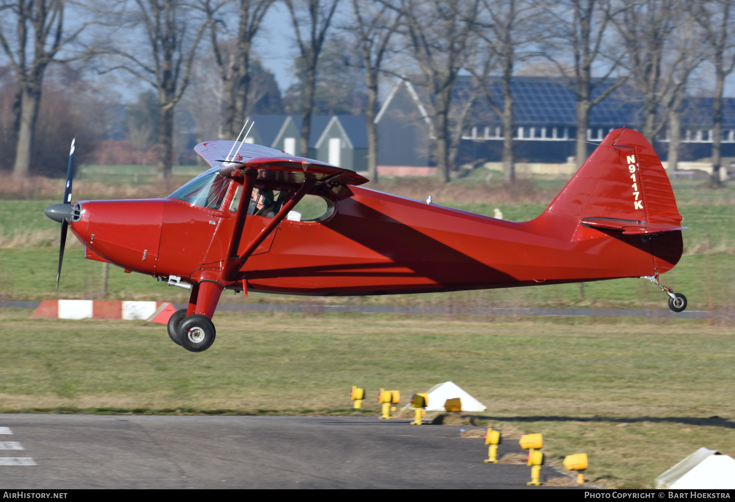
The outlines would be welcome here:
M 146 185 L 150 173 L 137 167 L 119 170 L 117 182 L 129 183 L 121 186 L 105 185 L 98 171 L 82 178 L 80 197 L 162 190 Z M 102 297 L 101 263 L 82 259 L 76 239 L 68 243 L 60 291 L 54 291 L 59 228 L 43 208 L 60 197 L 53 195 L 56 184 L 62 182 L 46 183 L 40 195 L 26 186 L 16 197 L 25 200 L 0 186 L 1 299 Z M 433 192 L 445 205 L 487 215 L 500 208 L 504 218 L 524 221 L 563 184 L 527 183 L 518 197 L 471 179 L 446 189 L 426 180 L 376 188 L 412 197 Z M 676 181 L 675 192 L 691 230 L 684 232 L 683 258 L 662 282 L 686 294 L 689 309 L 732 313 L 735 189 Z M 187 292 L 112 267 L 106 298 L 184 301 Z M 584 297 L 570 284 L 355 298 L 228 295 L 223 301 L 666 308 L 655 286 L 635 279 L 587 283 Z M 407 396 L 452 380 L 489 409 L 445 422 L 498 426 L 506 437 L 542 432 L 556 465 L 566 454 L 589 454 L 587 479 L 601 486 L 651 487 L 655 476 L 700 446 L 735 455 L 731 320 L 217 313 L 217 341 L 192 354 L 174 346 L 159 325 L 29 319 L 29 313 L 0 310 L 0 412 L 342 414 L 352 412 L 350 386 L 361 385 L 370 397 L 363 412 L 376 413 L 379 388 Z

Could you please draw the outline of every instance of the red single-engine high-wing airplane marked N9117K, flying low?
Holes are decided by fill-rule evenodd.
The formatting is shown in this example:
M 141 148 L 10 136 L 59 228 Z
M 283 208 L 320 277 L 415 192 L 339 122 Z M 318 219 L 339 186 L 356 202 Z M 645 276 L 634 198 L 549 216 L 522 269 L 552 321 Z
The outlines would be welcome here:
M 528 222 L 363 188 L 354 171 L 244 141 L 194 150 L 210 168 L 168 197 L 72 203 L 72 143 L 64 202 L 45 210 L 62 225 L 57 288 L 70 225 L 85 258 L 190 291 L 168 335 L 192 352 L 215 340 L 225 289 L 353 296 L 640 277 L 686 308 L 659 283 L 686 227 L 656 152 L 630 129 L 610 132 Z M 312 214 L 294 211 L 306 199 Z

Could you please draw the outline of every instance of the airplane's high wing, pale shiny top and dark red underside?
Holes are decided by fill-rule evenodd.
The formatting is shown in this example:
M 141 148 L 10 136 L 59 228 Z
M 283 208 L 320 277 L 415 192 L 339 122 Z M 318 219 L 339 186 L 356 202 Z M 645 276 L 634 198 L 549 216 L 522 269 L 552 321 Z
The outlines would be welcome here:
M 216 140 L 200 143 L 194 151 L 212 167 L 220 166 L 220 173 L 233 178 L 243 176 L 244 169 L 258 172 L 256 183 L 272 186 L 298 187 L 306 178 L 317 180 L 309 192 L 330 192 L 337 200 L 352 196 L 349 185 L 362 185 L 368 179 L 354 171 L 326 162 L 296 157 L 273 148 L 251 143 Z

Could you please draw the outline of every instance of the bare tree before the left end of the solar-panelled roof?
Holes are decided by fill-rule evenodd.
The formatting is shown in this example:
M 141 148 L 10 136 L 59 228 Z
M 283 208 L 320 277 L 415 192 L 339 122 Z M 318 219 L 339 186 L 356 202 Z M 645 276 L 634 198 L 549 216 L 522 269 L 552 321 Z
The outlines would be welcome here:
M 503 121 L 503 173 L 506 183 L 515 181 L 515 153 L 513 149 L 513 93 L 511 80 L 515 65 L 533 54 L 526 50 L 534 40 L 531 21 L 538 11 L 527 0 L 482 0 L 482 18 L 475 21 L 478 34 L 484 40 L 484 57 L 481 65 L 470 65 L 476 84 L 484 91 L 490 106 Z M 488 78 L 489 74 L 500 70 L 502 106 L 492 88 L 497 79 Z M 477 68 L 481 68 L 478 71 Z

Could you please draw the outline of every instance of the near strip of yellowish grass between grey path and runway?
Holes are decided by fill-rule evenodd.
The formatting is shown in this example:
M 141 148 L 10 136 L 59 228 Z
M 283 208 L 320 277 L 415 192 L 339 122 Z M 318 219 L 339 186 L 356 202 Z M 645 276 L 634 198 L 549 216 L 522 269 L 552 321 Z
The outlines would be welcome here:
M 697 321 L 218 313 L 193 354 L 159 325 L 28 315 L 0 310 L 1 412 L 344 414 L 359 385 L 376 414 L 379 388 L 406 402 L 451 380 L 488 407 L 454 423 L 542 432 L 605 486 L 650 487 L 700 446 L 735 454 L 735 423 L 711 418 L 735 412 L 732 331 Z

